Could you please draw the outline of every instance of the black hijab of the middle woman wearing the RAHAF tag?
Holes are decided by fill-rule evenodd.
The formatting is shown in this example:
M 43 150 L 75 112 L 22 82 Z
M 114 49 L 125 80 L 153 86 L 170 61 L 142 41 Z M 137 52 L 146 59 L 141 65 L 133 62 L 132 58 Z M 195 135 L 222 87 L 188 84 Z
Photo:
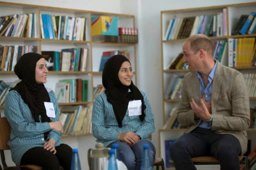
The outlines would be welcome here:
M 141 100 L 141 115 L 139 115 L 141 122 L 144 120 L 146 108 L 143 96 L 132 81 L 130 86 L 124 86 L 118 78 L 119 69 L 125 61 L 129 62 L 125 56 L 113 55 L 105 62 L 102 72 L 102 84 L 105 88 L 107 101 L 112 104 L 119 128 L 122 127 L 122 120 L 130 100 Z M 129 89 L 130 92 L 128 92 Z

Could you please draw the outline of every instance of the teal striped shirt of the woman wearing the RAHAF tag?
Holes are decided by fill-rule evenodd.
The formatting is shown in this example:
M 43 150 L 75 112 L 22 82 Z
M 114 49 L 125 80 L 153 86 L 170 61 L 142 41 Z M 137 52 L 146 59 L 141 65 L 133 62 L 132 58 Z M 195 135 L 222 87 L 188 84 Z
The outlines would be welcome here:
M 103 143 L 104 146 L 117 141 L 119 133 L 134 132 L 141 139 L 148 139 L 154 130 L 154 116 L 146 97 L 146 94 L 140 91 L 144 98 L 146 109 L 144 110 L 145 118 L 140 122 L 139 116 L 128 116 L 128 109 L 122 120 L 122 128 L 118 127 L 114 116 L 113 108 L 106 100 L 104 92 L 100 93 L 93 104 L 92 109 L 92 135 L 97 139 L 96 142 Z

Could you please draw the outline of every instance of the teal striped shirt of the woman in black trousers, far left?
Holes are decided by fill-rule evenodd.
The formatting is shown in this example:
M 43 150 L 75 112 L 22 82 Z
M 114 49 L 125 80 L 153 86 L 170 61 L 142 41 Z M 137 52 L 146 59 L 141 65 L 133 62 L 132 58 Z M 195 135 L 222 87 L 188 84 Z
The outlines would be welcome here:
M 51 122 L 58 121 L 59 109 L 56 97 L 52 90 L 47 89 L 47 91 L 50 102 L 55 109 L 55 118 L 50 118 L 50 120 Z M 34 147 L 43 147 L 43 144 L 46 142 L 43 139 L 43 133 L 45 132 L 50 131 L 48 139 L 54 139 L 55 146 L 60 145 L 61 134 L 56 130 L 50 130 L 47 122 L 35 122 L 27 104 L 23 102 L 21 96 L 15 90 L 9 91 L 6 95 L 4 115 L 11 127 L 8 145 L 12 161 L 16 165 L 19 165 L 21 157 L 27 150 Z

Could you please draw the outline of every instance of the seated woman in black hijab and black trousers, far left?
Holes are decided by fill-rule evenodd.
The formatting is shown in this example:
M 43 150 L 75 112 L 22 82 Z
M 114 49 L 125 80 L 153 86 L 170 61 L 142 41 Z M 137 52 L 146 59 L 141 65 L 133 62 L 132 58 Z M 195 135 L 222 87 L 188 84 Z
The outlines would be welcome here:
M 38 165 L 43 170 L 70 170 L 72 149 L 60 143 L 63 126 L 51 89 L 44 87 L 48 70 L 42 55 L 23 54 L 14 67 L 21 80 L 8 92 L 4 115 L 10 127 L 8 145 L 16 165 Z

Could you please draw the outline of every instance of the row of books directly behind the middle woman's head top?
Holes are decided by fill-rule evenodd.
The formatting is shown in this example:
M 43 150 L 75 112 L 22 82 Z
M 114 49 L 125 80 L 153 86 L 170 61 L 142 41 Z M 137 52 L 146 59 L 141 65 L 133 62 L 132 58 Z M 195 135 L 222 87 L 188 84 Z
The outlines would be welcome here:
M 127 57 L 127 58 L 129 59 L 129 53 L 127 52 L 126 49 L 123 49 L 123 50 L 113 50 L 113 51 L 103 51 L 103 52 L 102 52 L 102 55 L 101 55 L 101 59 L 100 59 L 98 71 L 103 71 L 105 62 L 106 62 L 111 56 L 116 55 L 116 54 L 124 55 L 125 57 Z

